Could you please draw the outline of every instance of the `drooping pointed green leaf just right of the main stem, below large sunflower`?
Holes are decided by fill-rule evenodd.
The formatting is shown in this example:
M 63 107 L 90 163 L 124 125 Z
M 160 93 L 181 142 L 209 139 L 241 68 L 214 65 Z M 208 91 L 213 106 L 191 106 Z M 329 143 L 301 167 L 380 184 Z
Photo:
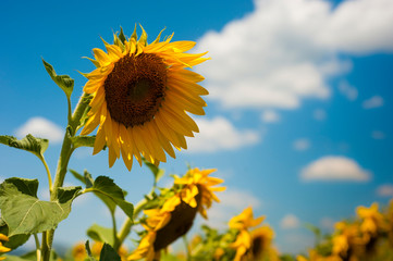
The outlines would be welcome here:
M 123 189 L 114 184 L 113 179 L 107 176 L 98 176 L 93 186 L 86 188 L 85 191 L 94 192 L 108 206 L 112 213 L 114 213 L 115 206 L 119 206 L 130 219 L 133 219 L 134 206 L 125 201 Z

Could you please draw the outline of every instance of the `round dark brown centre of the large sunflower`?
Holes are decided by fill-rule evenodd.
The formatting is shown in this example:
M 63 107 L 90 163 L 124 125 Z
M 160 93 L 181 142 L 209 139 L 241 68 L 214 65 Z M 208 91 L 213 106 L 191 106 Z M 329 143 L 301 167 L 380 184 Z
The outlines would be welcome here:
M 153 119 L 164 97 L 167 65 L 153 53 L 121 58 L 105 80 L 111 117 L 126 127 Z

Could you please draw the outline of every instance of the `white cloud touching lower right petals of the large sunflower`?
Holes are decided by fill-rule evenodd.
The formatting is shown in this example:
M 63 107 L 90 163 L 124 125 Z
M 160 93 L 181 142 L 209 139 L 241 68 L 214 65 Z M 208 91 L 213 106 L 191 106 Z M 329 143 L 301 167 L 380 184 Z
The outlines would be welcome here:
M 197 119 L 199 133 L 188 139 L 189 152 L 213 152 L 233 150 L 260 141 L 260 134 L 250 130 L 238 130 L 226 119 L 217 116 L 212 120 Z

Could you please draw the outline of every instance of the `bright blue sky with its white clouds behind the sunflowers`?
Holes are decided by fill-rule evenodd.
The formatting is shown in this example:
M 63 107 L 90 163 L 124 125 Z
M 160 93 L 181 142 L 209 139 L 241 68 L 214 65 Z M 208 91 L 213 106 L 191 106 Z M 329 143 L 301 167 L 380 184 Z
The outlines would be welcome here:
M 196 117 L 200 134 L 161 167 L 218 169 L 228 190 L 210 224 L 224 227 L 250 204 L 275 229 L 279 249 L 297 252 L 312 244 L 305 223 L 329 231 L 357 206 L 393 197 L 390 0 L 1 1 L 0 10 L 0 134 L 46 126 L 50 132 L 40 135 L 52 140 L 46 152 L 52 172 L 66 101 L 41 58 L 75 78 L 75 104 L 86 83 L 77 71 L 93 70 L 82 57 L 103 47 L 100 36 L 110 41 L 119 26 L 130 36 L 140 23 L 150 41 L 165 27 L 174 40 L 198 41 L 195 52 L 209 51 L 211 60 L 195 69 L 210 91 L 207 115 Z M 145 169 L 128 173 L 121 161 L 109 169 L 106 151 L 90 152 L 76 151 L 70 167 L 111 176 L 134 203 L 149 190 Z M 37 177 L 47 197 L 34 156 L 7 147 L 0 156 L 2 179 Z M 65 183 L 77 185 L 72 176 Z M 85 240 L 81 227 L 95 222 L 110 225 L 103 206 L 77 199 L 57 243 Z

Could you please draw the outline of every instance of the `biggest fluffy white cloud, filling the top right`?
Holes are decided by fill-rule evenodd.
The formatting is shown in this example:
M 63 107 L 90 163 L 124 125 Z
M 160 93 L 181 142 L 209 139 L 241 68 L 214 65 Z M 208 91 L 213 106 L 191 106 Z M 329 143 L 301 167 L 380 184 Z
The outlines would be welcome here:
M 255 0 L 255 10 L 208 32 L 199 69 L 210 99 L 226 108 L 296 109 L 327 99 L 327 79 L 351 70 L 339 53 L 393 50 L 393 1 Z

